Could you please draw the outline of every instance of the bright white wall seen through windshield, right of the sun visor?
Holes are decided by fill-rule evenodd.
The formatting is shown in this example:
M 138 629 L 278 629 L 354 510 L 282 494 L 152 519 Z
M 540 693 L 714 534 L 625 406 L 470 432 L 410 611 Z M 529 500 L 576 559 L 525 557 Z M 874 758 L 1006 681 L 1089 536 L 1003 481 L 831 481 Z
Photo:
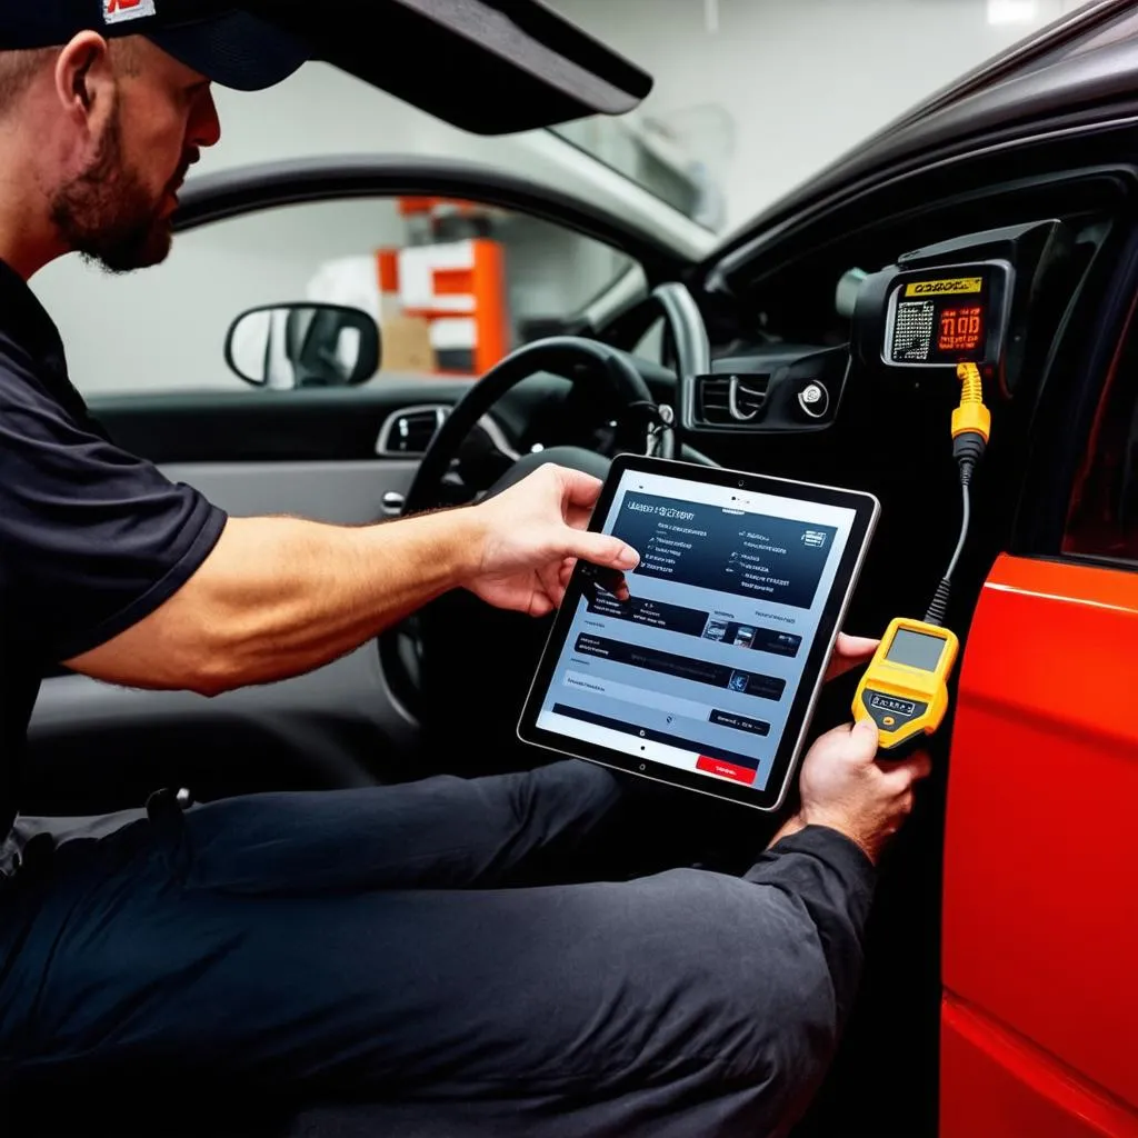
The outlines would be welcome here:
M 734 228 L 915 102 L 1082 2 L 552 0 L 552 6 L 655 76 L 646 114 L 668 116 L 707 104 L 728 108 L 735 148 L 724 180 Z M 990 15 L 1022 18 L 993 24 Z

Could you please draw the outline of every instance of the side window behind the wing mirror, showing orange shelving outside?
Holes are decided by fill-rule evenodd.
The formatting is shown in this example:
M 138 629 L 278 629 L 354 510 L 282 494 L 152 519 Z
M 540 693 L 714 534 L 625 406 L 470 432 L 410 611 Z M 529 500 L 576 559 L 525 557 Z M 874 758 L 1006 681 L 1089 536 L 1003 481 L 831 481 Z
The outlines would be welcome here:
M 32 287 L 84 395 L 223 393 L 250 390 L 224 357 L 231 324 L 250 308 L 322 302 L 366 312 L 382 343 L 370 382 L 473 378 L 558 331 L 630 267 L 616 249 L 521 214 L 357 198 L 201 225 L 178 236 L 164 264 L 130 275 L 69 257 Z

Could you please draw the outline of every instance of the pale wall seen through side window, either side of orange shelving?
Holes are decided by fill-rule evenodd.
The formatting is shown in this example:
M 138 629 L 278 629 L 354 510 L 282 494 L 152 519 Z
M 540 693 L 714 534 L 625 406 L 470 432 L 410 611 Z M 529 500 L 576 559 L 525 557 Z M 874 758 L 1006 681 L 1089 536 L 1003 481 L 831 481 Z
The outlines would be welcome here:
M 563 316 L 629 264 L 599 242 L 534 218 L 500 229 L 514 323 Z M 85 395 L 248 390 L 224 363 L 225 335 L 246 308 L 303 300 L 318 269 L 405 244 L 390 199 L 287 206 L 181 234 L 156 269 L 109 275 L 68 257 L 32 288 L 59 324 L 72 380 Z

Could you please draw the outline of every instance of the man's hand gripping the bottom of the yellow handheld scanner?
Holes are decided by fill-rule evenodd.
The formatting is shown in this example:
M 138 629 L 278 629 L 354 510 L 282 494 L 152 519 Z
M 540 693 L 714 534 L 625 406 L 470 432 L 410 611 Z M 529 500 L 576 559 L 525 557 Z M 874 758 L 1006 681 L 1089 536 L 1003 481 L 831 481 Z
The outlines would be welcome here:
M 802 806 L 774 841 L 805 826 L 828 826 L 876 864 L 913 809 L 914 784 L 932 769 L 924 753 L 879 764 L 877 741 L 877 728 L 867 720 L 823 735 L 802 764 Z

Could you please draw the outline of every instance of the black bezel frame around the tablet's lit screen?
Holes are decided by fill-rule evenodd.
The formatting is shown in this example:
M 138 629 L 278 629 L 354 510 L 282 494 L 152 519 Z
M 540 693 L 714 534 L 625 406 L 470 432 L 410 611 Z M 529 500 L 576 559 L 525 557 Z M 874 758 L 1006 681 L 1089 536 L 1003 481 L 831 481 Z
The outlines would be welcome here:
M 853 523 L 847 539 L 842 559 L 838 567 L 830 596 L 822 610 L 818 630 L 814 645 L 807 655 L 802 670 L 803 683 L 794 695 L 786 717 L 786 728 L 775 752 L 770 767 L 770 777 L 765 790 L 752 785 L 733 783 L 716 778 L 712 775 L 696 770 L 683 770 L 645 759 L 638 754 L 617 751 L 597 743 L 574 739 L 571 735 L 560 735 L 537 726 L 537 717 L 545 694 L 549 691 L 558 660 L 564 648 L 578 602 L 585 586 L 585 578 L 578 566 L 569 582 L 564 600 L 550 630 L 549 640 L 542 653 L 541 663 L 534 676 L 521 718 L 518 723 L 518 737 L 521 742 L 545 750 L 558 751 L 575 758 L 587 759 L 601 766 L 640 775 L 655 782 L 681 786 L 684 790 L 709 794 L 712 798 L 726 799 L 749 806 L 757 810 L 777 810 L 786 798 L 791 778 L 798 767 L 810 719 L 814 715 L 822 685 L 825 683 L 826 665 L 833 652 L 838 633 L 849 608 L 850 597 L 857 585 L 871 538 L 881 513 L 881 503 L 874 495 L 863 490 L 841 489 L 835 486 L 820 486 L 813 483 L 799 483 L 790 479 L 775 478 L 769 475 L 752 475 L 744 470 L 727 470 L 723 467 L 704 467 L 690 462 L 676 462 L 663 459 L 643 457 L 622 454 L 612 462 L 609 477 L 605 479 L 601 496 L 593 511 L 589 529 L 600 531 L 604 520 L 612 509 L 617 488 L 626 473 L 641 471 L 646 475 L 661 475 L 678 478 L 684 481 L 703 486 L 721 486 L 740 488 L 758 494 L 769 494 L 775 497 L 794 498 L 803 502 L 817 502 L 823 505 L 840 506 L 853 511 Z M 809 676 L 815 676 L 813 683 Z M 629 736 L 629 747 L 635 747 L 635 736 Z

